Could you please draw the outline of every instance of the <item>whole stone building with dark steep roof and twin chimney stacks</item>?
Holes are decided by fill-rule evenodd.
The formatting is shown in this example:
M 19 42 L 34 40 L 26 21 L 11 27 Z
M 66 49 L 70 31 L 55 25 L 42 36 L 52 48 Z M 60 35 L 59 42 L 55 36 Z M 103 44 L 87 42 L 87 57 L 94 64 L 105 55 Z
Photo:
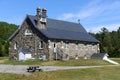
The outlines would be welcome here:
M 47 18 L 46 9 L 27 15 L 22 25 L 10 36 L 9 58 L 79 59 L 99 53 L 99 41 L 80 23 Z

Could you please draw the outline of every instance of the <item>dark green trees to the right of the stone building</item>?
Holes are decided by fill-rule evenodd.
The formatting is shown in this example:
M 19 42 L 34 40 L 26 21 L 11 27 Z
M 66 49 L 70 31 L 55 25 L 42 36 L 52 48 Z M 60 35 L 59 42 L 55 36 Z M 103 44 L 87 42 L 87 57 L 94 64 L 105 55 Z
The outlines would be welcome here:
M 100 32 L 91 34 L 100 41 L 101 53 L 107 53 L 110 57 L 120 57 L 120 27 L 112 32 L 103 27 Z

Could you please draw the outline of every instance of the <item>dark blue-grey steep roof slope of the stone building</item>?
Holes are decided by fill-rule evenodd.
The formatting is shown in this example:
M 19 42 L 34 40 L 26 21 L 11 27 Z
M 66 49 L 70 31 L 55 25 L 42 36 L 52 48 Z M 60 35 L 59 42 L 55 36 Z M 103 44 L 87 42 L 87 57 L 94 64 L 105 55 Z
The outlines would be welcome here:
M 39 29 L 35 23 L 36 16 L 28 15 L 35 28 L 48 38 L 99 42 L 87 33 L 81 24 L 47 18 L 46 29 Z

